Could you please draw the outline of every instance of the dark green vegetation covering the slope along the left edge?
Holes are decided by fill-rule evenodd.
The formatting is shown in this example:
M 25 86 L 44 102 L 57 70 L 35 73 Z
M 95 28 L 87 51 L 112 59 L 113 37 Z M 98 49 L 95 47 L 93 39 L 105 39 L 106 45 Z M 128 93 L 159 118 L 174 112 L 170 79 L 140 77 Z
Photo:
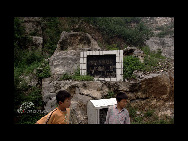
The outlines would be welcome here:
M 48 21 L 48 19 L 45 19 L 45 21 Z M 57 37 L 55 33 L 50 32 L 50 30 L 54 30 L 55 25 L 48 25 L 50 22 L 45 23 L 43 20 L 41 24 L 47 27 L 43 34 L 49 36 L 46 37 L 46 42 L 40 50 L 31 45 L 31 35 L 35 34 L 36 36 L 37 32 L 26 34 L 22 22 L 20 18 L 14 18 L 14 113 L 16 123 L 26 124 L 32 121 L 34 114 L 18 115 L 16 110 L 25 101 L 32 101 L 36 108 L 43 109 L 41 81 L 51 75 L 49 63 L 45 59 L 48 58 L 49 54 L 52 54 L 52 50 L 54 51 L 59 35 Z M 54 47 L 51 50 L 52 42 Z M 26 81 L 28 77 L 35 79 L 38 82 L 37 85 L 29 85 Z M 37 116 L 40 116 L 40 114 L 37 114 Z M 28 118 L 31 120 L 28 121 Z

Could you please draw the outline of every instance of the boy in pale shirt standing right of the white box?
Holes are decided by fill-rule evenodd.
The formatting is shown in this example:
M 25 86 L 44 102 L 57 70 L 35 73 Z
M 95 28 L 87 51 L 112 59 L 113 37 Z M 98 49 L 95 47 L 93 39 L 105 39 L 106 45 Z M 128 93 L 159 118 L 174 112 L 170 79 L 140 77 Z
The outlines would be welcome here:
M 130 124 L 129 112 L 125 109 L 127 99 L 124 92 L 116 95 L 117 104 L 108 108 L 105 124 Z

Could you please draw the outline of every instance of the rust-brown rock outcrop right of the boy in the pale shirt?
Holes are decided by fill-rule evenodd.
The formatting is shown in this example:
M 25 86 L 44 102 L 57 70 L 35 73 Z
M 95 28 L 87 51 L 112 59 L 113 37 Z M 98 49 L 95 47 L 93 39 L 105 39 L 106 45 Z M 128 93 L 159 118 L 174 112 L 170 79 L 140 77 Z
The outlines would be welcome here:
M 139 82 L 131 83 L 128 96 L 131 106 L 140 111 L 155 109 L 163 115 L 174 117 L 174 76 L 172 74 L 148 74 Z

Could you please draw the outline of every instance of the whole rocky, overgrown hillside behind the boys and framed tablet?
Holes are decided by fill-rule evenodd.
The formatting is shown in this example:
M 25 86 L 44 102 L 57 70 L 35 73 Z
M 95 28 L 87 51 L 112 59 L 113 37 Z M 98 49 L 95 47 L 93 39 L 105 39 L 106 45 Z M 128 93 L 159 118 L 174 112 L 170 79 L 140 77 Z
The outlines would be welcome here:
M 133 123 L 151 123 L 143 116 L 147 113 L 155 115 L 148 117 L 149 120 L 156 117 L 165 120 L 167 115 L 171 121 L 174 116 L 173 21 L 172 17 L 15 18 L 15 113 L 24 101 L 32 101 L 37 109 L 51 110 L 56 106 L 55 93 L 66 89 L 73 94 L 71 108 L 76 112 L 75 123 L 87 123 L 88 100 L 113 97 L 124 90 L 129 95 Z M 124 82 L 91 81 L 88 85 L 85 79 L 65 81 L 70 76 L 80 79 L 77 70 L 80 51 L 114 49 L 124 50 L 125 64 L 136 66 L 124 67 Z M 27 123 L 35 123 L 41 116 L 36 113 L 33 119 L 33 115 L 16 113 L 15 122 L 24 123 L 27 119 L 30 120 Z

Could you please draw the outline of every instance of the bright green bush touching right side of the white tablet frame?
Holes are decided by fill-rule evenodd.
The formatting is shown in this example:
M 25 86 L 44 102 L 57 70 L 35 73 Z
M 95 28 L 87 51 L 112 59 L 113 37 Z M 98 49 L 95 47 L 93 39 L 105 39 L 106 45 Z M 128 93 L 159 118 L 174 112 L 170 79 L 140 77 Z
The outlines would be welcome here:
M 133 72 L 135 70 L 142 70 L 143 64 L 139 61 L 139 58 L 134 56 L 125 56 L 123 58 L 123 80 L 128 78 L 134 78 Z

